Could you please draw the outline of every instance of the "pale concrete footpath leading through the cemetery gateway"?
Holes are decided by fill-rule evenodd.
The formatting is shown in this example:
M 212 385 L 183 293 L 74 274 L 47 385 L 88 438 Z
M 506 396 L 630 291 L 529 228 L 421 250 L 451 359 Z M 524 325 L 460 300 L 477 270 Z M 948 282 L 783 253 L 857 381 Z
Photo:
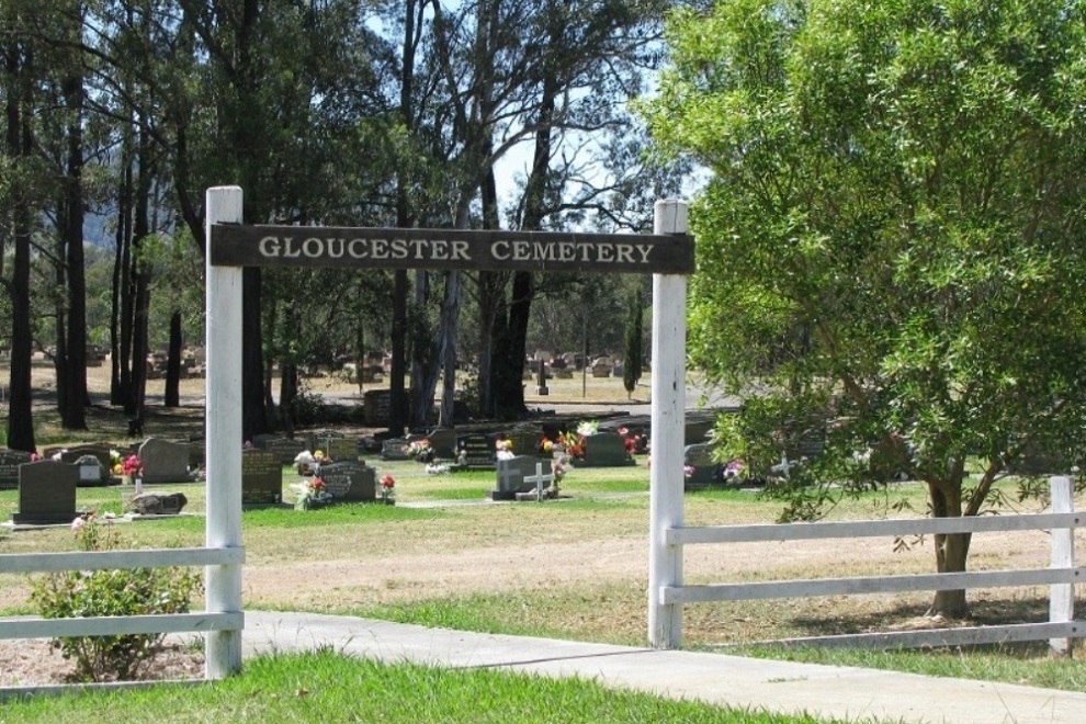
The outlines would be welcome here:
M 1086 693 L 693 652 L 247 611 L 246 656 L 328 647 L 383 661 L 568 676 L 661 697 L 850 722 L 1086 722 Z

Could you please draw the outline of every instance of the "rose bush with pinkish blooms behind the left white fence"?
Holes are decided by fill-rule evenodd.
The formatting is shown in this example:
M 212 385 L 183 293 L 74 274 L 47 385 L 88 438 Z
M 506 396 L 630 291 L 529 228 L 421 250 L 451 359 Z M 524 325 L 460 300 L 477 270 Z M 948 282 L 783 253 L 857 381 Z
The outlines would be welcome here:
M 126 547 L 116 529 L 93 518 L 77 520 L 72 530 L 84 551 Z M 202 588 L 200 574 L 190 568 L 66 570 L 35 579 L 31 601 L 45 619 L 188 613 Z M 75 661 L 77 681 L 117 681 L 136 678 L 163 638 L 161 633 L 71 636 L 50 645 Z

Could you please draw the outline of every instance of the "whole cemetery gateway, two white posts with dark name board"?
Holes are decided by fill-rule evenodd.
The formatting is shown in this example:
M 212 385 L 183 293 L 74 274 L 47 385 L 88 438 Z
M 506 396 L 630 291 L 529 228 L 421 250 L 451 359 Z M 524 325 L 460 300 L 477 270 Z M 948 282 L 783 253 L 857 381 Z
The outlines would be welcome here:
M 242 225 L 242 192 L 206 197 L 207 546 L 241 547 L 241 270 L 244 267 L 591 271 L 653 274 L 653 466 L 648 638 L 674 648 L 681 604 L 660 591 L 681 584 L 681 546 L 663 530 L 682 524 L 686 274 L 693 271 L 687 206 L 658 201 L 652 236 Z M 207 567 L 207 612 L 241 611 L 241 564 Z M 241 631 L 207 633 L 207 674 L 241 667 Z

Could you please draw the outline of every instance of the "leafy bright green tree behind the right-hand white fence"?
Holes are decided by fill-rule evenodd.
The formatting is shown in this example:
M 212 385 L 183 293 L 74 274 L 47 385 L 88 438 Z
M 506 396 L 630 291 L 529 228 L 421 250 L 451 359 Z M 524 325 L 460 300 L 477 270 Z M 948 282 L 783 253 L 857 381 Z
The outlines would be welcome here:
M 691 208 L 692 357 L 732 389 L 770 391 L 722 419 L 725 454 L 765 467 L 825 430 L 781 486 L 791 513 L 826 495 L 799 483 L 869 484 L 857 452 L 959 517 L 1028 451 L 1082 450 L 1084 29 L 1082 0 L 676 16 L 644 108 L 665 154 L 712 174 Z M 969 544 L 936 536 L 938 570 L 963 570 Z M 931 607 L 966 610 L 961 590 Z

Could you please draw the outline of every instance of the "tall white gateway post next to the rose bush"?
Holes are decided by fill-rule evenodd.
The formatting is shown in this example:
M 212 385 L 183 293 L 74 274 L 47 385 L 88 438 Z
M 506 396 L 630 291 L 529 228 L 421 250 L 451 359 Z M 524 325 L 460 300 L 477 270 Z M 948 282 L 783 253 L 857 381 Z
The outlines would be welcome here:
M 241 189 L 207 190 L 207 528 L 210 548 L 241 546 L 241 269 L 211 265 L 213 224 L 241 223 Z M 241 611 L 241 566 L 207 566 L 207 612 Z M 241 670 L 241 632 L 205 637 L 205 676 Z

